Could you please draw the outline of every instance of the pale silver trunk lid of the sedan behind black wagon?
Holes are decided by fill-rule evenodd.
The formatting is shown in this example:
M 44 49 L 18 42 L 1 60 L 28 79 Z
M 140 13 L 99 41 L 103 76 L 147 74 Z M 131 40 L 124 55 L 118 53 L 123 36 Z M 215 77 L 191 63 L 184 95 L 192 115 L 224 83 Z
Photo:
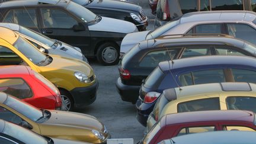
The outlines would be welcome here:
M 137 33 L 126 34 L 126 36 L 121 42 L 120 53 L 128 52 L 137 43 L 145 40 L 148 33 L 149 31 L 140 31 Z

